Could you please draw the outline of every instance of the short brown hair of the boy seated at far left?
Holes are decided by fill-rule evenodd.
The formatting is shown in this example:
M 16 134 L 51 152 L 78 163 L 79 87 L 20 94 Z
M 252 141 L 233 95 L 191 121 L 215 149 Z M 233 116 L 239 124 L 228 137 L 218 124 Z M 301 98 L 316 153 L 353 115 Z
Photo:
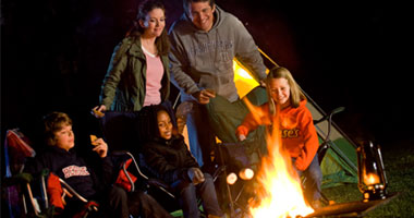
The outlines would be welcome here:
M 72 119 L 64 112 L 51 112 L 44 117 L 44 125 L 46 144 L 54 146 L 54 133 L 63 125 L 72 125 Z

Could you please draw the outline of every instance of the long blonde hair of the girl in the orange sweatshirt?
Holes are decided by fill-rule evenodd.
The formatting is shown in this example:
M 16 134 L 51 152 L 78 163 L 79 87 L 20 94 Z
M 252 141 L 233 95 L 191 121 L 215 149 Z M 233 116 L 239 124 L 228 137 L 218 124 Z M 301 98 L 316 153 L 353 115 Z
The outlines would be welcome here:
M 271 98 L 271 95 L 270 95 L 270 81 L 272 78 L 285 78 L 288 81 L 288 84 L 291 90 L 290 101 L 293 108 L 297 108 L 301 100 L 306 100 L 305 94 L 303 94 L 303 92 L 301 90 L 301 87 L 299 86 L 296 81 L 293 78 L 291 72 L 283 66 L 275 66 L 270 70 L 269 74 L 267 74 L 267 78 L 266 78 L 266 92 L 267 92 L 267 97 L 269 99 L 269 109 L 270 109 L 271 114 L 276 113 L 276 102 Z

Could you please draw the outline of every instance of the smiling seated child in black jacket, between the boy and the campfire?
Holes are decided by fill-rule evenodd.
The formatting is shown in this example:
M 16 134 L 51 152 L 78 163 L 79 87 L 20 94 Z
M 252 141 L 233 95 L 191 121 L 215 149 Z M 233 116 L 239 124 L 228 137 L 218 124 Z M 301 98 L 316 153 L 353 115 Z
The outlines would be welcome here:
M 184 217 L 199 217 L 196 192 L 203 199 L 208 217 L 220 217 L 214 181 L 203 173 L 191 155 L 182 135 L 173 134 L 171 117 L 162 106 L 155 107 L 157 128 L 154 140 L 143 147 L 146 164 L 159 179 L 180 194 Z

